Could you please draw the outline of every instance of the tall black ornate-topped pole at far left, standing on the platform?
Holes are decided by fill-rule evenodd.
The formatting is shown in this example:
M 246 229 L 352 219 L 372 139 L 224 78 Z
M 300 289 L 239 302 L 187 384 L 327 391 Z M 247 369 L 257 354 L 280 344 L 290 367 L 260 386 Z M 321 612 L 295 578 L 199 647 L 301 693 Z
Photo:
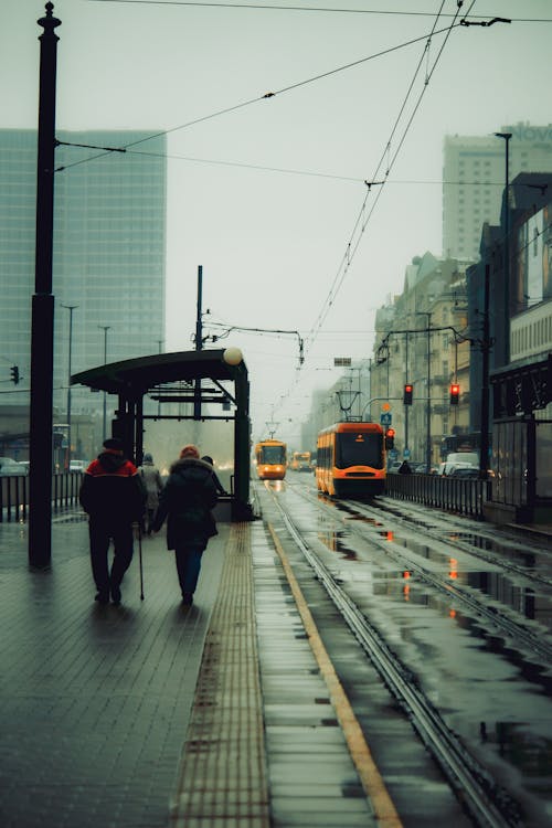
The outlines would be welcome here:
M 52 253 L 54 235 L 55 78 L 61 20 L 53 3 L 40 41 L 40 92 L 36 163 L 36 251 L 31 321 L 31 405 L 29 447 L 29 563 L 47 569 L 52 560 L 52 428 L 54 368 L 54 297 Z

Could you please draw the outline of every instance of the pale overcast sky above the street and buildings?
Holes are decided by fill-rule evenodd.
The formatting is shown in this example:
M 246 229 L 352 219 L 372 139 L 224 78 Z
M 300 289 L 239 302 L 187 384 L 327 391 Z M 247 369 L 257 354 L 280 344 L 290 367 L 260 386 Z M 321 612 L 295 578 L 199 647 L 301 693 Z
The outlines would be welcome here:
M 371 355 L 374 311 L 402 291 L 413 256 L 440 255 L 444 137 L 552 120 L 550 0 L 466 0 L 469 20 L 512 23 L 458 17 L 448 31 L 456 11 L 456 0 L 54 2 L 57 127 L 169 131 L 167 350 L 193 348 L 199 265 L 205 323 L 305 340 L 299 372 L 295 333 L 216 343 L 244 352 L 255 437 L 272 420 L 297 432 L 311 390 L 338 375 L 333 358 Z M 2 4 L 3 127 L 36 127 L 43 13 L 40 0 Z M 433 30 L 446 31 L 427 50 Z M 367 199 L 364 182 L 384 179 Z

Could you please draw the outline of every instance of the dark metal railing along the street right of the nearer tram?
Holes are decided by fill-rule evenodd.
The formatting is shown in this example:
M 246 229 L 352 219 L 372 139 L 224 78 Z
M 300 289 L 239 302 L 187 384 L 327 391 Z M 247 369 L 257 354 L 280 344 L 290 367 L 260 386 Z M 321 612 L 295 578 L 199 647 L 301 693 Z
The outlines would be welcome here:
M 491 497 L 489 480 L 443 475 L 388 475 L 385 493 L 473 518 L 484 517 L 484 503 Z

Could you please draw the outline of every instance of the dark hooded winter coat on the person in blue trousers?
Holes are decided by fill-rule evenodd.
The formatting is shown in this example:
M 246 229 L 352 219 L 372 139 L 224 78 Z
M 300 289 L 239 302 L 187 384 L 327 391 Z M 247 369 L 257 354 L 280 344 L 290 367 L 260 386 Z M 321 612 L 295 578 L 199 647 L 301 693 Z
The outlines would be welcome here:
M 204 548 L 216 534 L 211 512 L 216 500 L 212 467 L 194 457 L 177 460 L 159 498 L 152 529 L 158 532 L 167 518 L 167 549 L 192 543 Z

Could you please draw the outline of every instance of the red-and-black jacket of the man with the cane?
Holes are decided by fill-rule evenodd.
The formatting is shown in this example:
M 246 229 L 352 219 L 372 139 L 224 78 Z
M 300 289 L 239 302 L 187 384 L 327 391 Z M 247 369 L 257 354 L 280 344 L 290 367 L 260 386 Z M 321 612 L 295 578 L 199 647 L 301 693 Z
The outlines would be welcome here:
M 141 519 L 146 489 L 130 460 L 103 452 L 84 473 L 78 499 L 91 520 L 121 526 Z

